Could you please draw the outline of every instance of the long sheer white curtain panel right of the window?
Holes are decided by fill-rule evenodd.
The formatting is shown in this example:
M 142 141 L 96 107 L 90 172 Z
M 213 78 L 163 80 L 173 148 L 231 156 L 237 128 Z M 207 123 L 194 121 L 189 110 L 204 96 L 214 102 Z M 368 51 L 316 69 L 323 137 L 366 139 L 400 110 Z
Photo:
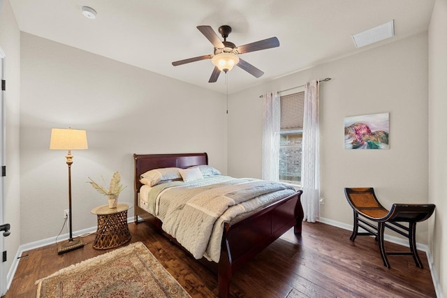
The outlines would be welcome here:
M 302 209 L 305 221 L 320 217 L 320 131 L 318 81 L 305 84 L 305 114 L 302 124 Z

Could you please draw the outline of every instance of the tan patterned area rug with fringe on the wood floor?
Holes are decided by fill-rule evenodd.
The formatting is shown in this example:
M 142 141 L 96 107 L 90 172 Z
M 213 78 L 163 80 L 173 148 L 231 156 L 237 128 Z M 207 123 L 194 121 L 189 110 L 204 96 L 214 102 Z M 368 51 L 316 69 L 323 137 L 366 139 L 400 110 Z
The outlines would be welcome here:
M 38 298 L 191 297 L 142 242 L 61 269 L 36 285 Z

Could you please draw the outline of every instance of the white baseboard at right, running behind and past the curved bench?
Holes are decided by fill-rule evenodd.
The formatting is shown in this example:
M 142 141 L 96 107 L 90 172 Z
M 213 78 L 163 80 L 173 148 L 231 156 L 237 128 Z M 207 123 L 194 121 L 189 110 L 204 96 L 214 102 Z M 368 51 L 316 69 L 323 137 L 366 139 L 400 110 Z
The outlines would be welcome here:
M 328 218 L 321 217 L 319 222 L 325 223 L 327 225 L 332 225 L 334 227 L 341 228 L 344 230 L 349 230 L 349 231 L 353 230 L 353 225 L 347 225 L 346 223 L 339 223 L 338 221 L 332 221 L 331 219 L 328 219 Z M 390 236 L 387 234 L 384 235 L 383 239 L 385 241 L 388 241 L 388 242 L 391 242 L 394 244 L 399 244 L 401 246 L 410 247 L 408 239 L 402 239 L 402 238 Z M 433 256 L 432 256 L 432 252 L 430 251 L 430 248 L 427 245 L 420 244 L 420 243 L 416 243 L 416 248 L 419 251 L 424 251 L 425 254 L 427 255 L 428 265 L 430 267 L 430 274 L 432 274 L 434 290 L 435 290 L 438 298 L 444 298 L 444 295 L 442 293 L 441 283 L 439 283 L 439 278 L 438 278 L 437 272 L 434 269 Z

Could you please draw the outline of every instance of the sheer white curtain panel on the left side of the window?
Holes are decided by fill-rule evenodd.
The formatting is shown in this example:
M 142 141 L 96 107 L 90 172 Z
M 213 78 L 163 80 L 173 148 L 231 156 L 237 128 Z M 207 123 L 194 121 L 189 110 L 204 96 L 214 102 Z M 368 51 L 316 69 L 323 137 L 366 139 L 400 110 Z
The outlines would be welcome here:
M 263 179 L 279 180 L 281 100 L 277 92 L 264 94 Z

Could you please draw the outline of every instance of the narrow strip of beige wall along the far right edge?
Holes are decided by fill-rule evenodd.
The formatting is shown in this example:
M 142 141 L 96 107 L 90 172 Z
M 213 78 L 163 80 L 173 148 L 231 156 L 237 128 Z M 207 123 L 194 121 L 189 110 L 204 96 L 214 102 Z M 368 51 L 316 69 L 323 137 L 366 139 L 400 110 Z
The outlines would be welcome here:
M 436 204 L 430 223 L 430 250 L 447 297 L 447 1 L 434 4 L 429 29 L 429 201 Z

